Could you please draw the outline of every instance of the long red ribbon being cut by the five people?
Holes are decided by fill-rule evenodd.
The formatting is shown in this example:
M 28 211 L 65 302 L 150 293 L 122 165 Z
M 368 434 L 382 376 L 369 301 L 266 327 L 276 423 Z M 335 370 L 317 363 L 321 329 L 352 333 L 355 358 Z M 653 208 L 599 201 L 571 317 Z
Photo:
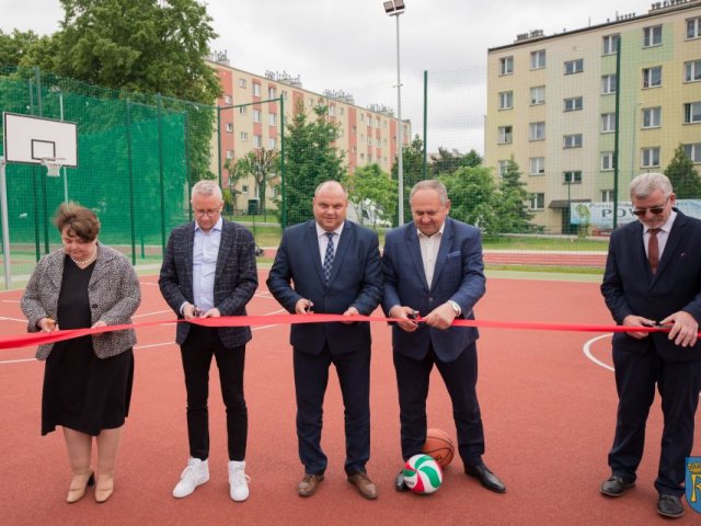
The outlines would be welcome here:
M 0 336 L 0 350 L 28 347 L 31 345 L 43 345 L 46 343 L 72 340 L 73 338 L 102 334 L 103 332 L 124 331 L 126 329 L 142 329 L 146 327 L 164 325 L 185 322 L 186 320 L 162 320 L 142 321 L 125 325 L 106 325 L 96 329 L 68 329 L 54 332 L 35 332 L 31 334 L 13 334 Z M 400 321 L 395 318 L 383 318 L 374 316 L 343 315 L 273 315 L 273 316 L 229 316 L 220 318 L 194 318 L 187 320 L 203 327 L 261 327 L 292 323 L 327 323 L 334 321 L 370 321 L 391 322 Z M 417 318 L 415 321 L 423 322 Z M 480 327 L 487 329 L 517 329 L 529 331 L 574 331 L 574 332 L 669 332 L 670 327 L 622 327 L 622 325 L 586 325 L 577 323 L 541 323 L 532 321 L 494 321 L 494 320 L 455 320 L 453 327 Z M 701 332 L 699 332 L 701 338 Z

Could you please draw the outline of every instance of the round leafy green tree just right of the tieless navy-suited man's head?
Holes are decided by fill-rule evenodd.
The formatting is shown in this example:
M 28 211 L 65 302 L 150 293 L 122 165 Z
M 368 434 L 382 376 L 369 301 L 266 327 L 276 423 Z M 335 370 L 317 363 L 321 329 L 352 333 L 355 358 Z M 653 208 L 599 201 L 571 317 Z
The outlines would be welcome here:
M 497 194 L 489 168 L 460 168 L 440 181 L 448 190 L 451 217 L 474 225 L 486 235 L 498 231 Z

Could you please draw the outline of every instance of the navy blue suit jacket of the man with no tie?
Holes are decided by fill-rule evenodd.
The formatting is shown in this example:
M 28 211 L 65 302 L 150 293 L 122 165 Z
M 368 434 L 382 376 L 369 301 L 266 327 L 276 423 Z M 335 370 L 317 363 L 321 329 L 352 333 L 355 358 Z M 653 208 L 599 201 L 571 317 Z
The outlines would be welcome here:
M 460 306 L 463 318 L 474 319 L 472 308 L 485 291 L 480 230 L 450 217 L 446 218 L 430 287 L 426 283 L 414 224 L 387 232 L 382 268 L 382 307 L 388 316 L 397 305 L 413 307 L 421 316 L 426 316 L 439 305 L 452 300 Z M 441 361 L 452 362 L 478 338 L 474 328 L 451 327 L 441 331 L 420 323 L 418 329 L 411 333 L 397 325 L 392 328 L 394 351 L 415 359 L 423 358 L 433 344 Z

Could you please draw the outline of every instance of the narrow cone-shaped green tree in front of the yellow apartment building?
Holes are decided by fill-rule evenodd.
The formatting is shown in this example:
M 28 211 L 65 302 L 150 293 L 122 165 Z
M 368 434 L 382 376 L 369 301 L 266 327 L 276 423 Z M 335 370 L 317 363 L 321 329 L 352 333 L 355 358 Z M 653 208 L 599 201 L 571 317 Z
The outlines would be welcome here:
M 506 164 L 506 172 L 499 183 L 499 194 L 495 202 L 499 232 L 528 232 L 533 214 L 528 208 L 530 194 L 521 181 L 521 172 L 514 157 Z

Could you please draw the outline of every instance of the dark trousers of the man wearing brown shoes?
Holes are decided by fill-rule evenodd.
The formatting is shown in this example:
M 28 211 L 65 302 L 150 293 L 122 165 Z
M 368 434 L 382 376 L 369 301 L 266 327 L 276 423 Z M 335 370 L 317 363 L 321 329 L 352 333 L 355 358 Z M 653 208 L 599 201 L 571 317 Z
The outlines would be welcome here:
M 365 471 L 370 458 L 370 348 L 363 352 L 332 354 L 325 346 L 321 354 L 295 348 L 295 391 L 297 396 L 297 439 L 304 472 L 321 474 L 327 459 L 321 449 L 323 403 L 329 385 L 329 367 L 338 374 L 345 408 L 345 471 Z

